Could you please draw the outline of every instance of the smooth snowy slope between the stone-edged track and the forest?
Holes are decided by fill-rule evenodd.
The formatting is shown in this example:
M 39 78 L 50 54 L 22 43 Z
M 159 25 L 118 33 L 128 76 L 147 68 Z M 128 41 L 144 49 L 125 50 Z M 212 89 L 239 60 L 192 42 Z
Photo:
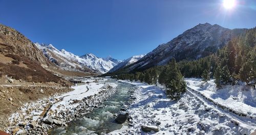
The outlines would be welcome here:
M 185 79 L 185 81 L 189 88 L 205 97 L 256 120 L 256 90 L 253 87 L 242 84 L 224 85 L 221 89 L 217 89 L 214 80 L 208 83 L 202 82 L 201 79 Z

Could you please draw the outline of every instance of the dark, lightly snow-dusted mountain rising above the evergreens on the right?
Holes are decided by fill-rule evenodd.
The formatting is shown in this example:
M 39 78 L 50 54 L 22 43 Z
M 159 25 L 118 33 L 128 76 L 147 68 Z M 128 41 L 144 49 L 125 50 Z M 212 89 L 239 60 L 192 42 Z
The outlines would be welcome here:
M 237 37 L 245 31 L 246 29 L 230 30 L 208 23 L 199 24 L 173 40 L 159 45 L 155 50 L 122 70 L 126 72 L 142 71 L 152 66 L 164 65 L 172 57 L 175 57 L 177 61 L 205 57 L 215 53 L 232 38 Z

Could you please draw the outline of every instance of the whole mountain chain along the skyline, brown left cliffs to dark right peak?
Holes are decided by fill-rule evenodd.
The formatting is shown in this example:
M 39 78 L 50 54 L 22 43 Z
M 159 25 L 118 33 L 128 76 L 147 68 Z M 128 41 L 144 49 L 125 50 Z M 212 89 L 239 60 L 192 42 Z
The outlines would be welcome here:
M 159 45 L 146 55 L 133 56 L 120 61 L 111 57 L 100 58 L 93 54 L 79 57 L 64 49 L 58 50 L 52 44 L 33 43 L 16 30 L 0 25 L 0 51 L 4 55 L 11 53 L 20 57 L 27 57 L 43 67 L 51 66 L 63 70 L 86 71 L 99 74 L 115 73 L 120 70 L 122 72 L 136 72 L 156 65 L 164 65 L 172 57 L 180 61 L 208 56 L 217 52 L 228 41 L 241 35 L 246 30 L 230 30 L 208 23 L 199 24 L 169 42 Z M 1 55 L 0 58 L 6 60 L 7 56 L 4 55 Z M 9 63 L 9 61 L 4 62 Z

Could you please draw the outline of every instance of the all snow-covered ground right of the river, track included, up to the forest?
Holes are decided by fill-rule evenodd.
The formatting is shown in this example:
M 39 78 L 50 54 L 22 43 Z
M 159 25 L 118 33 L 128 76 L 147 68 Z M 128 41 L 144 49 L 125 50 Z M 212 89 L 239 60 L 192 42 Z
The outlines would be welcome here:
M 135 103 L 127 109 L 132 122 L 109 134 L 251 134 L 256 130 L 254 89 L 229 85 L 217 90 L 214 80 L 207 84 L 185 80 L 188 91 L 179 101 L 166 98 L 164 88 L 123 81 L 139 89 Z M 142 125 L 160 131 L 145 133 Z

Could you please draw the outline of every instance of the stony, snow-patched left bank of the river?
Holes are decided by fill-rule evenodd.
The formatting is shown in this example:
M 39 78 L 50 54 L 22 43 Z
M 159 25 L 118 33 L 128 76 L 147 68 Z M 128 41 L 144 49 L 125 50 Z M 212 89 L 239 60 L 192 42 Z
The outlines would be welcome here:
M 56 126 L 82 117 L 116 92 L 116 84 L 106 79 L 73 87 L 73 92 L 25 104 L 7 121 L 11 134 L 48 134 Z

